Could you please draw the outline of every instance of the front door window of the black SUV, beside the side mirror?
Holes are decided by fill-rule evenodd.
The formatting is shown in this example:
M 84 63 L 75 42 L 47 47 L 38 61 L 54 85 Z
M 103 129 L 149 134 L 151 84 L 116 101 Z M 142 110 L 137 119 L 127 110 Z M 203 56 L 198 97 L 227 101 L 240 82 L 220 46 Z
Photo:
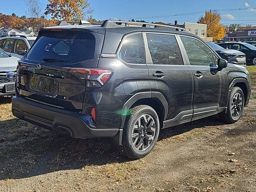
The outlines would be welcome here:
M 216 66 L 212 52 L 194 38 L 180 37 L 188 55 L 190 65 Z

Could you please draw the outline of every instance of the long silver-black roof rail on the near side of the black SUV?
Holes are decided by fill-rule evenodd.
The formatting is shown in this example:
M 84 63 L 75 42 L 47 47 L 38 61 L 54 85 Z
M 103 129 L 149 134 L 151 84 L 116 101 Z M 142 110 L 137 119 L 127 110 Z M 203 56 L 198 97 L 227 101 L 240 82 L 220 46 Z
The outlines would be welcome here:
M 191 33 L 189 30 L 180 28 L 180 27 L 174 27 L 174 26 L 170 26 L 170 25 L 161 25 L 161 24 L 155 24 L 155 23 L 134 22 L 134 21 L 105 20 L 101 26 L 102 27 L 140 26 L 140 27 L 171 29 L 171 30 Z

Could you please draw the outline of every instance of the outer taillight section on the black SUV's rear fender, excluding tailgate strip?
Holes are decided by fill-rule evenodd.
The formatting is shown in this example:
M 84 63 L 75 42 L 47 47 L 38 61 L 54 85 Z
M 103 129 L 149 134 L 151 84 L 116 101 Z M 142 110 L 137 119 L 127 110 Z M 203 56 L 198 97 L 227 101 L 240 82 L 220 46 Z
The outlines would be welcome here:
M 102 87 L 109 79 L 112 71 L 106 69 L 88 69 L 86 87 Z

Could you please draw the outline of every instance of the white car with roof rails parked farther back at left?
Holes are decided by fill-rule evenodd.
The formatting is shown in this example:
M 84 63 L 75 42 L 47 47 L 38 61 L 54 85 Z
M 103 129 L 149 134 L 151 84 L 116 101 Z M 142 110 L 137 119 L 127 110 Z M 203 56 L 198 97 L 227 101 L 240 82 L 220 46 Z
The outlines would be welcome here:
M 35 40 L 35 36 L 4 35 L 0 37 L 0 48 L 11 56 L 21 59 Z

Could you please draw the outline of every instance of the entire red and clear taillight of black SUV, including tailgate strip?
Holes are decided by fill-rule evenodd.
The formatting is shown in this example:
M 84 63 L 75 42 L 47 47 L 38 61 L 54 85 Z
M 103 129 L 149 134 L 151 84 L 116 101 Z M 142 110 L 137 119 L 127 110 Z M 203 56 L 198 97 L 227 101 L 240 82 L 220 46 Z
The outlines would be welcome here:
M 108 69 L 79 69 L 72 68 L 70 73 L 76 76 L 86 78 L 86 87 L 88 88 L 100 88 L 110 78 L 112 71 Z

